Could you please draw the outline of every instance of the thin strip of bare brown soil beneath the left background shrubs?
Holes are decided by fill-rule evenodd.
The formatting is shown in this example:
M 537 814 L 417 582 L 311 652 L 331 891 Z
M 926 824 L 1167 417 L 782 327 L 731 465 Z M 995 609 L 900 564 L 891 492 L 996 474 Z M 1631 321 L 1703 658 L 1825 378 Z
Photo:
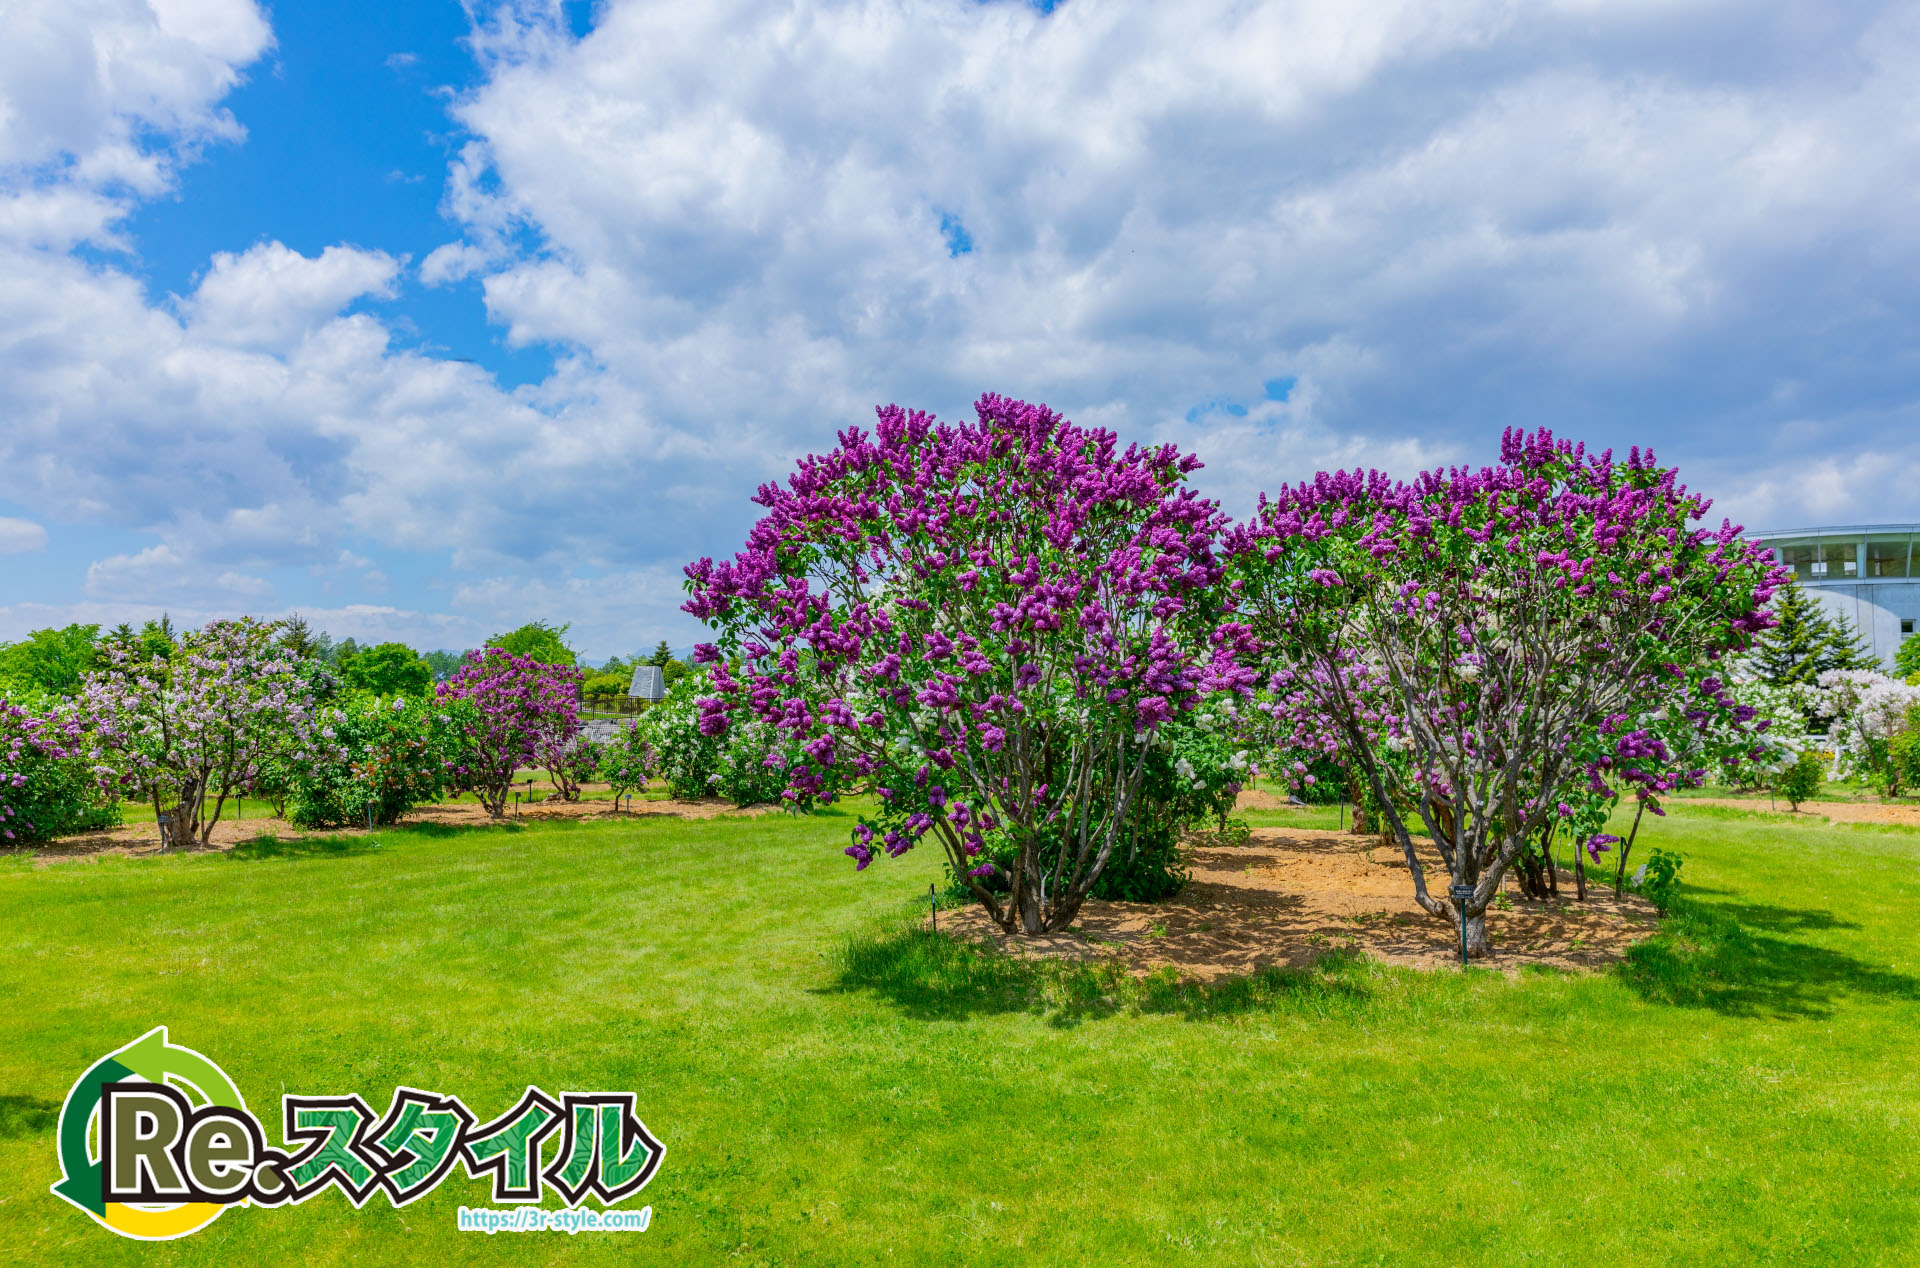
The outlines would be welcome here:
M 259 805 L 257 801 L 253 803 Z M 720 815 L 768 815 L 776 807 L 756 805 L 749 809 L 739 809 L 732 801 L 722 797 L 703 797 L 701 801 L 641 801 L 634 799 L 634 811 L 614 811 L 612 801 L 536 801 L 532 805 L 520 805 L 520 813 L 515 815 L 509 803 L 507 815 L 503 818 L 492 818 L 482 805 L 476 801 L 451 801 L 440 805 L 422 805 L 401 817 L 399 824 L 388 824 L 374 828 L 372 836 L 378 836 L 390 826 L 409 826 L 409 824 L 447 824 L 461 828 L 490 828 L 501 824 L 532 824 L 532 822 L 553 822 L 563 818 L 655 818 L 660 815 L 674 818 L 716 818 Z M 230 811 L 228 811 L 230 813 Z M 205 847 L 175 849 L 169 853 L 225 853 L 234 845 L 252 841 L 253 838 L 273 834 L 278 838 L 355 838 L 369 836 L 365 828 L 296 828 L 284 818 L 271 817 L 248 817 L 242 820 L 223 818 L 213 824 L 213 840 Z M 157 855 L 159 853 L 159 828 L 154 822 L 134 822 L 121 828 L 109 828 L 106 832 L 83 832 L 77 836 L 63 836 L 58 841 L 31 847 L 35 863 L 56 863 L 61 859 L 86 859 L 100 855 Z

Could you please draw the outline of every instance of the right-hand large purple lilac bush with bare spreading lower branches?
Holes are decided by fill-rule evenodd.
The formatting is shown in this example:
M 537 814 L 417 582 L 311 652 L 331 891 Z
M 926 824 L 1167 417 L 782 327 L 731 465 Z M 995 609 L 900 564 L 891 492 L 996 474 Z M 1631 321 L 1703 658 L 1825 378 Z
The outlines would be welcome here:
M 1400 807 L 1417 811 L 1471 890 L 1471 951 L 1501 876 L 1572 815 L 1567 792 L 1663 770 L 1636 719 L 1724 697 L 1711 667 L 1766 628 L 1782 571 L 1734 524 L 1692 526 L 1707 507 L 1638 448 L 1509 430 L 1494 467 L 1321 473 L 1233 530 L 1269 674 L 1338 730 L 1415 901 L 1457 918 L 1428 893 Z M 1384 684 L 1386 709 L 1356 680 Z

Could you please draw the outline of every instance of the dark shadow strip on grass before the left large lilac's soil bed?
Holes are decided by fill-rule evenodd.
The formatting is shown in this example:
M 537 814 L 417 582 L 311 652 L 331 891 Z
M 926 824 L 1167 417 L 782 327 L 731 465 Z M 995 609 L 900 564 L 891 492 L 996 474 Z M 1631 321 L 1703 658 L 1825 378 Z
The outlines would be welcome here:
M 1171 966 L 1135 978 L 1114 963 L 1004 955 L 918 922 L 849 938 L 837 968 L 826 989 L 874 993 L 920 1020 L 1027 1012 L 1052 1026 L 1117 1012 L 1188 1020 L 1275 1009 L 1356 1014 L 1377 1003 L 1384 982 L 1380 966 L 1356 951 L 1329 951 L 1309 968 L 1265 968 L 1219 984 L 1183 982 Z

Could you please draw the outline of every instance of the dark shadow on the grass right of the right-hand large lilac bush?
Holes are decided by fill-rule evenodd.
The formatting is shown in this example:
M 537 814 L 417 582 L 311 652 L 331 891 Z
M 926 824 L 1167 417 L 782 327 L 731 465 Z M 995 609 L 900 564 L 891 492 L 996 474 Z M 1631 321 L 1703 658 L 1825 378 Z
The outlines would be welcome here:
M 1644 999 L 1730 1016 L 1818 1018 L 1849 995 L 1920 999 L 1916 978 L 1795 938 L 1853 928 L 1830 911 L 1703 903 L 1686 893 L 1619 972 Z

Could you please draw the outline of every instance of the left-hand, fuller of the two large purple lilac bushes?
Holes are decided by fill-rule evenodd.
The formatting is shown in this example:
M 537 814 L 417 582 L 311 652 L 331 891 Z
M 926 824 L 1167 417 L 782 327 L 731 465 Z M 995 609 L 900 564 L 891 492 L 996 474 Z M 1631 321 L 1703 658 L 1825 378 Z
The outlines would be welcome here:
M 998 396 L 960 425 L 879 409 L 758 492 L 739 555 L 687 567 L 718 630 L 703 728 L 797 742 L 789 797 L 874 788 L 858 866 L 931 836 L 1002 928 L 1064 928 L 1162 724 L 1252 688 L 1196 467 Z

